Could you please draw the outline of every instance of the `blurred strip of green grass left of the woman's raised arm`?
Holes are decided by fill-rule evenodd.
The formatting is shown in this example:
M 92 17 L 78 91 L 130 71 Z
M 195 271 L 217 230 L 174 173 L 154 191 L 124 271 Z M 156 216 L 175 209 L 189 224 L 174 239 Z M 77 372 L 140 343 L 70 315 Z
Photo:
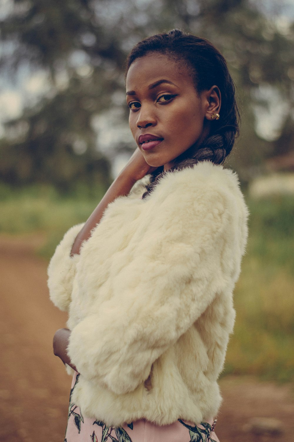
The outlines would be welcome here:
M 24 234 L 46 232 L 46 244 L 39 253 L 47 259 L 72 225 L 85 221 L 104 194 L 80 186 L 74 194 L 59 194 L 54 187 L 31 186 L 14 189 L 0 186 L 0 232 Z

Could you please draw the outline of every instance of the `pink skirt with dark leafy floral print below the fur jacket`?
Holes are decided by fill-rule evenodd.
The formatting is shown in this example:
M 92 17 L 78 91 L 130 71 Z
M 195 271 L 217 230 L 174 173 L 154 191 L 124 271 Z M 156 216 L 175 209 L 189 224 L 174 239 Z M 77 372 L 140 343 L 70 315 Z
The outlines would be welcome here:
M 83 416 L 80 408 L 71 402 L 79 375 L 75 373 L 69 398 L 69 417 L 65 442 L 219 442 L 214 433 L 216 421 L 195 425 L 181 419 L 170 425 L 159 426 L 145 419 L 107 427 L 105 423 Z

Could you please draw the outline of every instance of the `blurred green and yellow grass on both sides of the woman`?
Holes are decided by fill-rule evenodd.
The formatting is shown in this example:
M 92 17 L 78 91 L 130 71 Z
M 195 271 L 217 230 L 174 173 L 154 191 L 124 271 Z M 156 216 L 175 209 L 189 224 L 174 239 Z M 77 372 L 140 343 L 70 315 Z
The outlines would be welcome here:
M 103 194 L 60 196 L 50 187 L 0 186 L 0 232 L 42 232 L 50 258 L 70 226 L 84 221 Z M 294 200 L 248 200 L 249 240 L 235 290 L 237 318 L 223 375 L 294 380 Z

